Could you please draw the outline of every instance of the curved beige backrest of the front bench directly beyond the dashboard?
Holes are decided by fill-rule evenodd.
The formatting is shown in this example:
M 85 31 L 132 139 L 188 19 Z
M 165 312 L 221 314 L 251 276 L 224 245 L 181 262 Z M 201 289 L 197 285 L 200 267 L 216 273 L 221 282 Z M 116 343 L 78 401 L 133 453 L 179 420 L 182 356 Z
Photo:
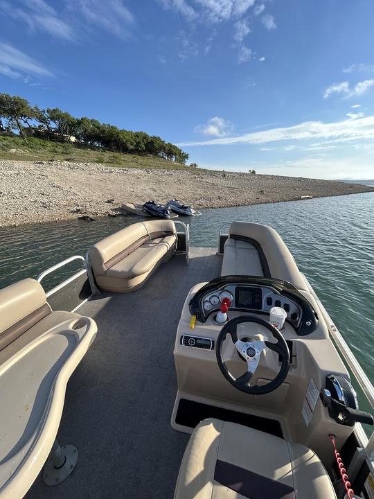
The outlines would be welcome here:
M 265 258 L 271 277 L 290 282 L 298 289 L 306 289 L 306 283 L 297 268 L 294 257 L 274 229 L 268 225 L 251 222 L 233 222 L 229 229 L 229 236 L 231 238 L 239 236 L 255 244 L 260 258 Z

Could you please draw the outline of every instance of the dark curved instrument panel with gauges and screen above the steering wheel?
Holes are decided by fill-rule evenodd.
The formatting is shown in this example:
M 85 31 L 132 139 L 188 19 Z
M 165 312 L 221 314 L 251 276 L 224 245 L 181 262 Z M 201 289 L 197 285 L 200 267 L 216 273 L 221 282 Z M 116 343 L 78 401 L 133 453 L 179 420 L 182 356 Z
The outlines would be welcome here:
M 287 313 L 290 322 L 299 335 L 307 335 L 317 328 L 317 313 L 309 302 L 292 284 L 278 279 L 263 277 L 224 276 L 213 279 L 199 289 L 191 299 L 191 315 L 199 322 L 214 317 L 222 303 L 230 301 L 229 310 L 245 313 L 269 314 L 278 306 Z

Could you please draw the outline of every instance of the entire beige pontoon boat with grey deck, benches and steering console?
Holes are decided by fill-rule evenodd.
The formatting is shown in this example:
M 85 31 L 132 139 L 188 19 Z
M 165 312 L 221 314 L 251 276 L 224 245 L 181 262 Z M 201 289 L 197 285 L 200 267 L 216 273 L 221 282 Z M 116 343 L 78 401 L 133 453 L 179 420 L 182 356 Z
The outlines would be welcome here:
M 1 499 L 374 497 L 373 385 L 270 227 L 139 222 L 37 281 L 0 291 Z

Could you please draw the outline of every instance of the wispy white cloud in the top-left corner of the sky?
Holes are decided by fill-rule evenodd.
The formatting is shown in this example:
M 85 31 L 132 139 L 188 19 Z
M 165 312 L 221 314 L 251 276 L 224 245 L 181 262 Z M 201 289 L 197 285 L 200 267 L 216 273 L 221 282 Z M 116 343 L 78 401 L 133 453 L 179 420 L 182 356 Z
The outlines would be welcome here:
M 28 29 L 44 31 L 62 40 L 73 40 L 72 28 L 62 21 L 56 10 L 44 0 L 21 0 L 19 7 L 6 0 L 0 1 L 0 13 L 16 21 L 21 21 Z

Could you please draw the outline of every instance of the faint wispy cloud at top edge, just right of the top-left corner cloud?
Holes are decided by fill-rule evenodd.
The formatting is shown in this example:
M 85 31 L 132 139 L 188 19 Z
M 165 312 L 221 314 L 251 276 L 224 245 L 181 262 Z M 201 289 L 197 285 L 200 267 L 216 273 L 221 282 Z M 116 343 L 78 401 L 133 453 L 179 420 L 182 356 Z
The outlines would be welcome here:
M 120 38 L 127 37 L 134 24 L 134 16 L 122 0 L 67 0 L 67 3 L 87 24 L 99 26 Z

